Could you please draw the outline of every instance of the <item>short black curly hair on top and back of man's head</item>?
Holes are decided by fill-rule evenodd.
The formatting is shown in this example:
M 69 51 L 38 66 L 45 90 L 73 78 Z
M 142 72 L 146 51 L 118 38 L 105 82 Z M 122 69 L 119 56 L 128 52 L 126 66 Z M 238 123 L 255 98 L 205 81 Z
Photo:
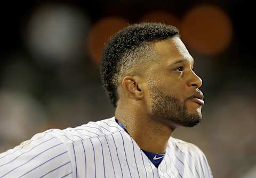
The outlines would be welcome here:
M 173 36 L 179 36 L 179 31 L 174 26 L 144 22 L 128 26 L 110 38 L 103 48 L 100 74 L 103 87 L 105 87 L 114 107 L 117 106 L 118 101 L 117 84 L 114 82 L 114 78 L 119 75 L 121 67 L 124 69 L 124 66 L 122 66 L 124 56 L 133 53 L 134 50 L 146 43 L 164 40 Z

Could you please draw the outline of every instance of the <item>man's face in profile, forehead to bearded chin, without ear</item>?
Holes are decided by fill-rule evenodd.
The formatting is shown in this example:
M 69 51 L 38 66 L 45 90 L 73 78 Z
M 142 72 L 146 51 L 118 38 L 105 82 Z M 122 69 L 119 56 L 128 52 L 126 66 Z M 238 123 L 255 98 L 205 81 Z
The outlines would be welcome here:
M 191 96 L 201 92 L 202 80 L 193 71 L 193 58 L 179 37 L 158 41 L 154 49 L 157 57 L 147 72 L 150 114 L 174 126 L 198 124 L 203 101 Z

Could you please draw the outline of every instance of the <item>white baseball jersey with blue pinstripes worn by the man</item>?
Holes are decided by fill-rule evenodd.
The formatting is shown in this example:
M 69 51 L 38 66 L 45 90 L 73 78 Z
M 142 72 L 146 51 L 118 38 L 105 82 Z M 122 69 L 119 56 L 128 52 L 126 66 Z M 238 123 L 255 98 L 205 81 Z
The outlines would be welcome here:
M 34 135 L 0 154 L 2 177 L 213 177 L 203 152 L 170 137 L 157 167 L 116 122 L 115 117 L 76 128 Z

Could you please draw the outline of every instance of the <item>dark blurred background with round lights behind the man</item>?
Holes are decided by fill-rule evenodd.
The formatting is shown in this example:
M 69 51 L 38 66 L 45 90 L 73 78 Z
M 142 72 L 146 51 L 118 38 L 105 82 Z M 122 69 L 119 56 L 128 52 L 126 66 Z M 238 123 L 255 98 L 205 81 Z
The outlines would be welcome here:
M 114 115 L 98 63 L 109 36 L 148 21 L 177 26 L 203 79 L 203 120 L 173 137 L 195 143 L 214 177 L 256 177 L 252 1 L 1 2 L 0 152 L 50 128 Z

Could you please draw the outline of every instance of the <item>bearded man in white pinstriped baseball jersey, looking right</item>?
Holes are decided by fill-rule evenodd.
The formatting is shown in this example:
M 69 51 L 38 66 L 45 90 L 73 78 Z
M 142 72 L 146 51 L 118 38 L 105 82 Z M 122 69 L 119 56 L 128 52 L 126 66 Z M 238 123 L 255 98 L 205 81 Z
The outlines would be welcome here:
M 115 117 L 52 129 L 0 155 L 0 177 L 213 177 L 203 152 L 171 137 L 202 119 L 202 80 L 175 27 L 129 26 L 103 50 Z

